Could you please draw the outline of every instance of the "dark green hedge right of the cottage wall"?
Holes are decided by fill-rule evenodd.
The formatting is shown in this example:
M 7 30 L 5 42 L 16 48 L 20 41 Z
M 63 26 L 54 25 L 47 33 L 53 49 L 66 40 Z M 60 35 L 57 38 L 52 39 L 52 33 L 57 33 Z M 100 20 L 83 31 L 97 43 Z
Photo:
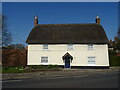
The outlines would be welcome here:
M 110 55 L 110 66 L 120 66 L 120 56 Z

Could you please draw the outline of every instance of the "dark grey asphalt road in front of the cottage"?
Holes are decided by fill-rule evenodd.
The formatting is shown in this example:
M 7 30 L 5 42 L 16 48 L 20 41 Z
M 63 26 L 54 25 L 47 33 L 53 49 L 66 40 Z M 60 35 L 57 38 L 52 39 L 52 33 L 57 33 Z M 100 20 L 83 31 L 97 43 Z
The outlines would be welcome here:
M 118 72 L 5 80 L 3 88 L 118 88 Z

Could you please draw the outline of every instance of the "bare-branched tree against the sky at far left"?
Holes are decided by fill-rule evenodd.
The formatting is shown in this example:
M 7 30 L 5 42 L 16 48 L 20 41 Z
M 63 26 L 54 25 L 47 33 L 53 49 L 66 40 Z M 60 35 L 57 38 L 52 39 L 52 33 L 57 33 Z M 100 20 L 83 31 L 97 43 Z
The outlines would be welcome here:
M 2 46 L 10 45 L 12 42 L 12 35 L 7 29 L 6 17 L 2 16 Z

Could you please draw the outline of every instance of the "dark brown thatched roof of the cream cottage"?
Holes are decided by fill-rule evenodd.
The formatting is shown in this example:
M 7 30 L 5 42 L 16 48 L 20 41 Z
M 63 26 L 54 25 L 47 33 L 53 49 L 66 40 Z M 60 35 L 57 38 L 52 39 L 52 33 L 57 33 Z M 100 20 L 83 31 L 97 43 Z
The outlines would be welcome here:
M 100 24 L 39 24 L 30 32 L 28 44 L 106 44 Z

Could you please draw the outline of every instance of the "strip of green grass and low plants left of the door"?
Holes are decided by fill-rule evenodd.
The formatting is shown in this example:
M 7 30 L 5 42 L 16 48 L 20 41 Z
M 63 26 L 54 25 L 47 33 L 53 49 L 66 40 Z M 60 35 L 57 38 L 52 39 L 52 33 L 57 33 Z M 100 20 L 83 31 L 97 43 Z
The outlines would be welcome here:
M 39 71 L 61 71 L 57 65 L 29 65 L 26 67 L 3 67 L 2 73 L 29 73 L 29 72 L 39 72 Z

